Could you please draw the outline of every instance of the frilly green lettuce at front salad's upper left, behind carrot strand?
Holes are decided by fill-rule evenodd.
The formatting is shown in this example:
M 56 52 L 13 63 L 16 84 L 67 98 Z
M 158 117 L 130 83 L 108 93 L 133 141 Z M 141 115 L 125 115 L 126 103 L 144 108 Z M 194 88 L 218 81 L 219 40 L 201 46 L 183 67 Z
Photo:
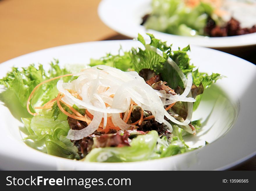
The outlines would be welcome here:
M 6 77 L 0 79 L 0 84 L 14 92 L 21 105 L 26 107 L 28 97 L 36 85 L 56 76 L 70 74 L 70 72 L 65 68 L 61 69 L 58 63 L 58 60 L 51 62 L 51 68 L 48 72 L 43 69 L 41 64 L 39 64 L 38 68 L 36 68 L 34 64 L 31 64 L 28 67 L 23 67 L 22 70 L 19 70 L 17 67 L 13 67 L 12 71 L 8 72 Z M 63 78 L 66 82 L 72 79 L 75 78 L 73 76 Z M 42 106 L 58 94 L 58 90 L 56 88 L 58 80 L 59 79 L 50 81 L 38 88 L 31 100 L 32 108 Z

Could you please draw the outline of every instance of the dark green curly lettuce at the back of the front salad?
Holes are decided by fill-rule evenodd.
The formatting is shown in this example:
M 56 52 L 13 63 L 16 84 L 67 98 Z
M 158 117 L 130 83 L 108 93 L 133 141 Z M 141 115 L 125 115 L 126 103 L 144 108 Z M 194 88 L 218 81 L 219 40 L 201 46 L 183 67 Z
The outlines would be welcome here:
M 190 62 L 188 52 L 190 46 L 179 48 L 178 50 L 172 50 L 172 45 L 167 45 L 166 42 L 154 37 L 154 35 L 147 33 L 150 36 L 150 43 L 146 44 L 142 35 L 138 34 L 138 41 L 144 45 L 142 48 L 132 48 L 131 51 L 120 53 L 118 55 L 108 54 L 106 57 L 102 57 L 99 60 L 91 60 L 90 66 L 95 65 L 111 65 L 115 68 L 123 71 L 134 70 L 140 72 L 142 69 L 151 69 L 157 74 L 161 74 L 167 85 L 181 94 L 184 89 L 184 84 L 179 77 L 177 71 L 167 62 L 170 57 L 182 70 L 186 76 L 189 72 L 193 76 L 193 98 L 196 99 L 193 109 L 196 110 L 202 99 L 202 93 L 205 88 L 209 88 L 212 83 L 215 83 L 218 79 L 222 78 L 221 74 L 212 73 L 211 75 L 199 72 L 198 68 Z M 155 47 L 163 52 L 163 56 L 159 56 L 155 51 L 149 47 Z M 113 60 L 122 60 L 125 67 L 113 64 Z M 182 92 L 181 92 L 182 91 Z M 177 107 L 177 106 L 176 106 Z

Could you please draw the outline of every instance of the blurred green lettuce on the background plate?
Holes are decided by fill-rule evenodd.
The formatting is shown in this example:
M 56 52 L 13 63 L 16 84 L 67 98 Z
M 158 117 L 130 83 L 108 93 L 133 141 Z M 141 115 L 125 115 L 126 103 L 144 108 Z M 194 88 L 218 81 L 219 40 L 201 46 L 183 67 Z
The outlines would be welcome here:
M 213 7 L 203 2 L 193 8 L 181 0 L 153 0 L 151 5 L 144 26 L 175 35 L 205 35 L 207 17 L 213 13 Z

